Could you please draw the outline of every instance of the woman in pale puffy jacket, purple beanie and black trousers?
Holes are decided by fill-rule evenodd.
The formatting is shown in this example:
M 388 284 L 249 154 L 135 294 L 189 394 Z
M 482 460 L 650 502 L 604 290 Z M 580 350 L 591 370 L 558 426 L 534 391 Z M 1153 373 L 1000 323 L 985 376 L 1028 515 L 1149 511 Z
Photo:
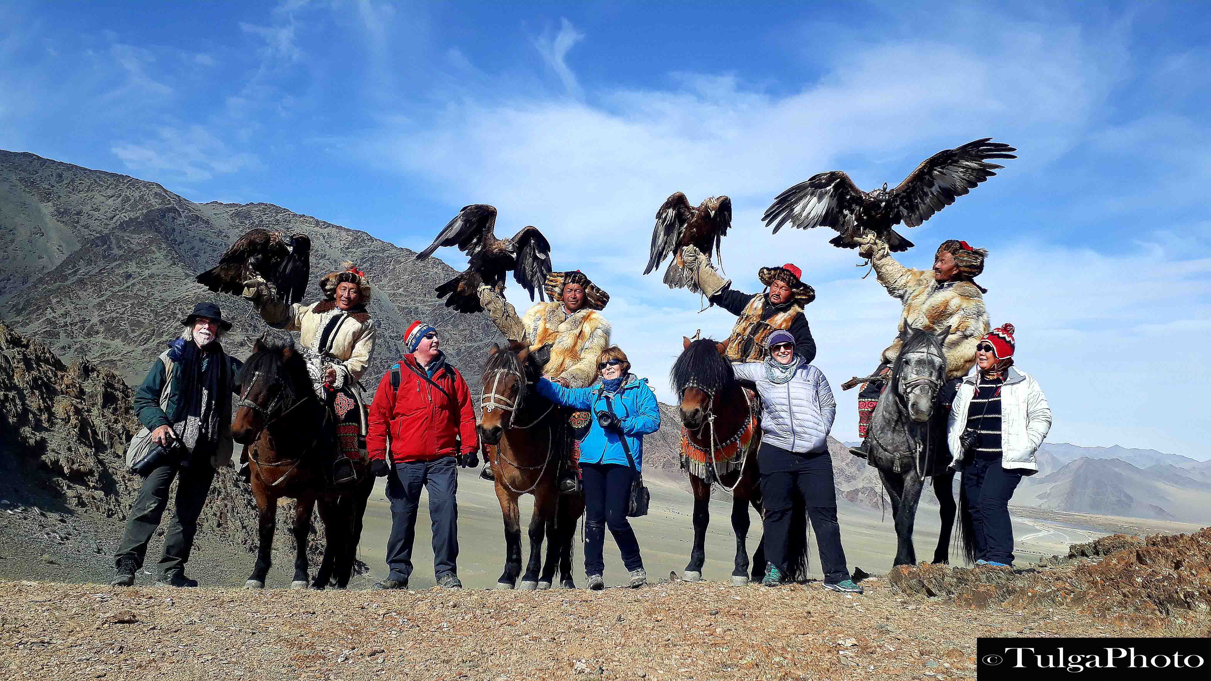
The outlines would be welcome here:
M 762 396 L 761 468 L 765 532 L 767 586 L 777 586 L 791 566 L 787 545 L 791 514 L 798 494 L 807 507 L 825 573 L 825 586 L 861 594 L 850 578 L 837 522 L 837 488 L 828 431 L 837 416 L 837 401 L 823 372 L 794 354 L 794 337 L 775 331 L 765 340 L 763 362 L 735 366 L 736 378 L 752 380 Z

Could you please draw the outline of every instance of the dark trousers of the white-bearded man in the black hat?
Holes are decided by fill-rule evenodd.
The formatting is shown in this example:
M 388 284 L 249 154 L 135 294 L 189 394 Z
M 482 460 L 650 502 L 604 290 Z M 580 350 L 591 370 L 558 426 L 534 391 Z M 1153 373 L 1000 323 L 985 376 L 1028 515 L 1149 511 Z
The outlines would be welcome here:
M 177 508 L 163 536 L 163 556 L 160 559 L 160 576 L 183 574 L 189 553 L 194 548 L 194 534 L 197 533 L 197 516 L 202 513 L 206 494 L 214 481 L 214 469 L 208 460 L 199 460 L 189 468 L 178 464 L 161 465 L 151 471 L 134 498 L 134 505 L 126 517 L 126 532 L 114 554 L 114 563 L 120 567 L 124 559 L 134 561 L 134 568 L 143 567 L 143 556 L 148 543 L 160 526 L 163 510 L 168 505 L 168 488 L 179 473 L 177 485 Z

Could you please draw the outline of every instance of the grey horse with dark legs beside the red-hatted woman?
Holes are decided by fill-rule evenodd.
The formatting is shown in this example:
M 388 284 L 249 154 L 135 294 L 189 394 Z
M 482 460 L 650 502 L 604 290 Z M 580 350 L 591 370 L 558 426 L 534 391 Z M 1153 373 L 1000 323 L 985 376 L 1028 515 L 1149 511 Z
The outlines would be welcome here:
M 951 452 L 946 441 L 948 414 L 939 400 L 946 382 L 942 342 L 949 333 L 949 327 L 939 333 L 907 326 L 900 331 L 900 354 L 871 414 L 867 430 L 869 465 L 878 469 L 891 499 L 891 517 L 896 528 L 893 567 L 917 563 L 912 533 L 925 477 L 932 477 L 942 516 L 934 562 L 949 563 L 955 517 L 952 492 L 954 470 L 949 468 Z M 970 517 L 969 514 L 959 515 L 963 519 L 959 537 L 970 562 L 975 556 Z

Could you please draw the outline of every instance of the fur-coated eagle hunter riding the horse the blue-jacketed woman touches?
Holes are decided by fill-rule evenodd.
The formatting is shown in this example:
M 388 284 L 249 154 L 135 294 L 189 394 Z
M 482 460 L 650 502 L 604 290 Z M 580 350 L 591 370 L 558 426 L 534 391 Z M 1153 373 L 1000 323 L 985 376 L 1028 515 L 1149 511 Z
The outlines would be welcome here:
M 609 303 L 609 293 L 580 270 L 551 273 L 545 288 L 551 302 L 535 303 L 522 317 L 504 296 L 487 285 L 480 286 L 480 304 L 505 338 L 526 343 L 538 356 L 547 355 L 543 376 L 564 388 L 586 388 L 597 380 L 597 357 L 609 347 L 610 324 L 601 314 Z M 564 464 L 570 463 L 569 453 L 564 452 L 561 459 Z M 484 454 L 490 457 L 488 452 Z M 484 467 L 483 477 L 492 476 L 492 470 Z M 563 465 L 559 491 L 572 493 L 576 488 L 573 467 Z

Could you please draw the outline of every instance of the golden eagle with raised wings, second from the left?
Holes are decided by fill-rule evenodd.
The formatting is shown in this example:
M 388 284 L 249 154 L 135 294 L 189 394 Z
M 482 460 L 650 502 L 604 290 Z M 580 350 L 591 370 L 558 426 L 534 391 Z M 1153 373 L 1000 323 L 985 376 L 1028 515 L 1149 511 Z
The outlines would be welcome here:
M 551 274 L 551 245 L 535 227 L 523 227 L 512 239 L 497 239 L 497 208 L 486 204 L 465 206 L 454 219 L 446 224 L 437 239 L 427 248 L 417 253 L 423 261 L 442 246 L 458 246 L 470 256 L 465 271 L 436 288 L 438 298 L 446 298 L 446 307 L 460 313 L 480 313 L 477 290 L 487 284 L 497 291 L 505 288 L 505 273 L 512 270 L 513 279 L 529 292 L 530 301 L 538 293 L 545 301 L 543 285 Z

